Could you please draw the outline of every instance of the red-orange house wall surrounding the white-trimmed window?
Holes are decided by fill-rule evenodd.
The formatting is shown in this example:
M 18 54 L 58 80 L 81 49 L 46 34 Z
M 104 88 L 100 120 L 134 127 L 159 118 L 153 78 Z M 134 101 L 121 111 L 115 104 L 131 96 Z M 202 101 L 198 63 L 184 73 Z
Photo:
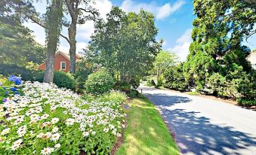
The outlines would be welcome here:
M 57 54 L 57 56 L 55 56 L 55 58 L 54 58 L 54 70 L 60 71 L 60 62 L 66 62 L 66 69 L 63 71 L 68 72 L 69 71 L 69 59 L 66 59 L 66 57 L 64 57 L 61 54 Z M 40 65 L 39 69 L 45 70 L 45 63 Z

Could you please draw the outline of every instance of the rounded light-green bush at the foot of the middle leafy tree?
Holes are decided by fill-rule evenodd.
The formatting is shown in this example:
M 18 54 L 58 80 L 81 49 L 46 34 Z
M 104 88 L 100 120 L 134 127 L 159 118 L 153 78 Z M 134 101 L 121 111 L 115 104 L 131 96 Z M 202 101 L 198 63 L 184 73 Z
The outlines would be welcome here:
M 114 86 L 113 77 L 106 71 L 97 71 L 88 76 L 85 81 L 85 91 L 93 95 L 99 95 L 111 90 Z

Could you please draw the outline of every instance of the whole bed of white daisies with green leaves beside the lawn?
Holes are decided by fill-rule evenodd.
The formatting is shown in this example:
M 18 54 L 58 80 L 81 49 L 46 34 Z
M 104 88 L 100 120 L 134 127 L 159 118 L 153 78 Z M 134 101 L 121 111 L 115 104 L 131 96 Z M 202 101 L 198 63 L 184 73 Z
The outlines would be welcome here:
M 0 104 L 0 154 L 109 154 L 125 127 L 123 93 L 82 99 L 54 84 L 23 82 Z

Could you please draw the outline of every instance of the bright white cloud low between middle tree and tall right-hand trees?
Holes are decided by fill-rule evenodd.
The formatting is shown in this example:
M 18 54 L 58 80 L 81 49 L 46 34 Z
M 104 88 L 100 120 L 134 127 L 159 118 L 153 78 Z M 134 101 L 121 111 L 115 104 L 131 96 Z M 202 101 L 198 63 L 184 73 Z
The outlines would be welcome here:
M 187 55 L 190 53 L 190 43 L 192 42 L 192 39 L 190 37 L 191 32 L 192 29 L 187 29 L 187 31 L 184 32 L 184 34 L 181 35 L 180 38 L 177 38 L 177 45 L 175 45 L 173 48 L 168 49 L 168 51 L 176 53 L 176 55 L 179 56 L 180 61 L 185 61 Z

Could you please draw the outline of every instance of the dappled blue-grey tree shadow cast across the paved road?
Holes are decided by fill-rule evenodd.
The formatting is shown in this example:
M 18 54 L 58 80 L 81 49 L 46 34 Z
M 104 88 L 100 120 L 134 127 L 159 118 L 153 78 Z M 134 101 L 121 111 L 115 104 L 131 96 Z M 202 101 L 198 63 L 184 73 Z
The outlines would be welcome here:
M 184 154 L 256 154 L 256 138 L 230 126 L 214 125 L 208 117 L 199 117 L 195 111 L 168 110 L 176 104 L 192 102 L 182 96 L 146 94 L 160 108 L 162 116 L 174 129 L 180 152 Z M 256 131 L 255 131 L 256 132 Z

